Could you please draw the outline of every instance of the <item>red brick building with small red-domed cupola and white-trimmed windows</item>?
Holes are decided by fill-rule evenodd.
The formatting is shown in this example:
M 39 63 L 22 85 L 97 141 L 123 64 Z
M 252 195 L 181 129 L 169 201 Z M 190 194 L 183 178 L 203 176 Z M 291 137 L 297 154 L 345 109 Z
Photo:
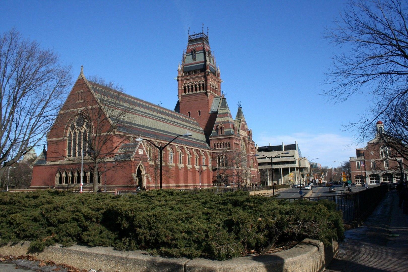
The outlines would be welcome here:
M 380 184 L 383 181 L 398 182 L 401 178 L 406 180 L 406 161 L 381 141 L 379 133 L 384 131 L 384 124 L 378 121 L 376 126 L 374 139 L 366 147 L 357 148 L 356 157 L 350 157 L 351 181 L 355 184 Z

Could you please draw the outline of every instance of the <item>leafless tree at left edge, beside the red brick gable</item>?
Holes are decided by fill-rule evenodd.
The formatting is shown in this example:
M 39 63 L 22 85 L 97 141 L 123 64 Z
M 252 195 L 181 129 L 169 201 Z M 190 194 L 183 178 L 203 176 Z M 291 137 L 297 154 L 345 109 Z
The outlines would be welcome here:
M 28 146 L 52 126 L 71 84 L 71 67 L 52 50 L 25 40 L 15 29 L 0 37 L 0 181 Z

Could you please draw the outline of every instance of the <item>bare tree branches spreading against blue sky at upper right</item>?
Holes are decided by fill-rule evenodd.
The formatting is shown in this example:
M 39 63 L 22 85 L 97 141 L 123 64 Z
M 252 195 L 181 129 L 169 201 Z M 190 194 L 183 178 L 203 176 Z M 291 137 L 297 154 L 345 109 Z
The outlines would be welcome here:
M 350 1 L 326 35 L 335 45 L 351 47 L 348 53 L 333 57 L 327 73 L 333 87 L 325 92 L 326 97 L 334 102 L 354 94 L 373 98 L 373 106 L 361 120 L 347 126 L 361 140 L 372 136 L 369 128 L 390 108 L 406 109 L 407 10 L 408 3 L 402 0 Z

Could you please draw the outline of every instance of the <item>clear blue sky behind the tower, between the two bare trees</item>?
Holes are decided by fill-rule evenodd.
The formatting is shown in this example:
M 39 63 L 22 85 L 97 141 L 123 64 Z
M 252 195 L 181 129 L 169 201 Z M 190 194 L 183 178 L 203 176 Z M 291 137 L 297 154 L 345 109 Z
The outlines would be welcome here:
M 258 146 L 293 144 L 303 156 L 337 166 L 355 156 L 343 125 L 364 111 L 364 97 L 327 102 L 324 71 L 333 53 L 326 27 L 344 1 L 2 1 L 1 32 L 24 37 L 123 85 L 126 93 L 173 109 L 177 64 L 188 27 L 209 29 L 233 117 L 238 102 Z M 351 146 L 350 146 L 351 145 Z

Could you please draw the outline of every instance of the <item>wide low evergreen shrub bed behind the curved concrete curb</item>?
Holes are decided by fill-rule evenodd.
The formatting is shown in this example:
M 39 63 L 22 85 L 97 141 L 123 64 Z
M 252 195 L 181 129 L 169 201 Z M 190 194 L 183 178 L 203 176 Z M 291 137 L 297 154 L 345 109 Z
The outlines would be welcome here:
M 330 201 L 285 200 L 248 192 L 151 190 L 137 195 L 58 190 L 0 193 L 0 243 L 29 250 L 73 243 L 217 260 L 262 252 L 279 241 L 343 239 Z

